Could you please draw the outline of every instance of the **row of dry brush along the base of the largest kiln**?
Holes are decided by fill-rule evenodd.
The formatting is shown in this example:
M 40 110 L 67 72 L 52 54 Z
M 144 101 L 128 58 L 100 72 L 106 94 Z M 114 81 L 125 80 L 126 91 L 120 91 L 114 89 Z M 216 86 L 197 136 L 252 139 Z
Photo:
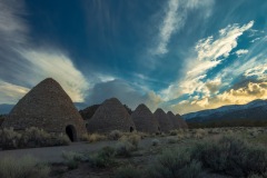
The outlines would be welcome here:
M 3 128 L 0 132 L 0 146 L 3 149 L 34 148 L 69 145 L 70 140 L 62 134 L 48 134 L 36 127 L 17 132 L 13 128 Z

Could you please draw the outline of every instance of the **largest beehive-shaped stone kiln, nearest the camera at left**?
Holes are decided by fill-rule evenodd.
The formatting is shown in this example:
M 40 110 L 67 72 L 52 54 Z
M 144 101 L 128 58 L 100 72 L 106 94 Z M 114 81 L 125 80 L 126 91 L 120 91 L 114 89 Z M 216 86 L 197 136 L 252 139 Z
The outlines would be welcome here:
M 66 132 L 70 125 L 78 137 L 86 134 L 83 120 L 70 97 L 56 80 L 48 78 L 19 100 L 2 127 L 18 130 L 38 127 L 49 132 Z

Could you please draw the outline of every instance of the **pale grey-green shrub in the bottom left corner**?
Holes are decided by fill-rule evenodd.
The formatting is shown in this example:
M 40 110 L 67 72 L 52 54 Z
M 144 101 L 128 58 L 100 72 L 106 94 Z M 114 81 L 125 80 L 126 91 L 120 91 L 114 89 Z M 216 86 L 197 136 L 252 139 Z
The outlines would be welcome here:
M 48 178 L 50 168 L 37 159 L 24 156 L 20 159 L 4 157 L 0 159 L 1 178 Z

